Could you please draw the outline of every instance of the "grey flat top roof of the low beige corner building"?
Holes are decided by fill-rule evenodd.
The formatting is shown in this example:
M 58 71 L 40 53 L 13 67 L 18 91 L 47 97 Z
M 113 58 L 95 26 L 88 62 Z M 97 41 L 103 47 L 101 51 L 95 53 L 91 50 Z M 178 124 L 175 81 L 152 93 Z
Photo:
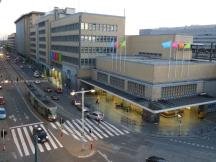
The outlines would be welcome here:
M 213 62 L 206 62 L 202 60 L 192 60 L 192 61 L 185 61 L 185 60 L 166 60 L 166 59 L 153 59 L 148 57 L 140 57 L 140 56 L 101 56 L 107 59 L 113 60 L 122 60 L 127 62 L 134 62 L 134 63 L 141 63 L 141 64 L 150 64 L 150 65 L 182 65 L 182 64 L 214 64 Z

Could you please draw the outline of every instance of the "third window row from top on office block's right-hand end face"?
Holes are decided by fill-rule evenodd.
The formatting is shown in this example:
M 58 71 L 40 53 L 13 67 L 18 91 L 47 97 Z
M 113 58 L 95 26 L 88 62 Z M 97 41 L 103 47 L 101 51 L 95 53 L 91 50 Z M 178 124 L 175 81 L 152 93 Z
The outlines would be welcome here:
M 81 53 L 116 53 L 116 48 L 112 47 L 82 47 Z

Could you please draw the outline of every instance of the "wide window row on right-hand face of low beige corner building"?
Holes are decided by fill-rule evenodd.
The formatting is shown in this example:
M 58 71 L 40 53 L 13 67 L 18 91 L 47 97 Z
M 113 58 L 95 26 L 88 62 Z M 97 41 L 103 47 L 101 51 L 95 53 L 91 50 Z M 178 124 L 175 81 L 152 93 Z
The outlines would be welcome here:
M 182 97 L 196 94 L 197 85 L 179 85 L 162 88 L 162 98 Z

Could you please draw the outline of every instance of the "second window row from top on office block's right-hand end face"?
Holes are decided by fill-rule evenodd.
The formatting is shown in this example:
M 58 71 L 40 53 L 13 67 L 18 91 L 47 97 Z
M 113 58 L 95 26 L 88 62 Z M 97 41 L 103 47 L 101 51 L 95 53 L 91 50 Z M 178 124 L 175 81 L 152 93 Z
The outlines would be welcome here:
M 81 35 L 82 42 L 116 42 L 116 36 Z

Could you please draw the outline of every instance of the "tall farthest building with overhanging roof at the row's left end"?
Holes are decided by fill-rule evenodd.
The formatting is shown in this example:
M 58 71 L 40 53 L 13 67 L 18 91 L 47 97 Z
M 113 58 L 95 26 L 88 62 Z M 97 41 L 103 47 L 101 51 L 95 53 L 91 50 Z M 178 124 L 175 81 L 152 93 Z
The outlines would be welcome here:
M 16 21 L 16 52 L 28 57 L 30 53 L 30 28 L 34 26 L 37 18 L 43 15 L 43 12 L 32 11 L 20 16 Z

